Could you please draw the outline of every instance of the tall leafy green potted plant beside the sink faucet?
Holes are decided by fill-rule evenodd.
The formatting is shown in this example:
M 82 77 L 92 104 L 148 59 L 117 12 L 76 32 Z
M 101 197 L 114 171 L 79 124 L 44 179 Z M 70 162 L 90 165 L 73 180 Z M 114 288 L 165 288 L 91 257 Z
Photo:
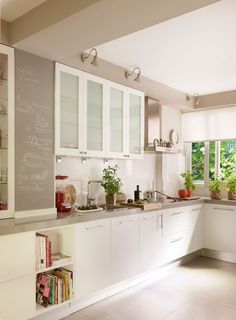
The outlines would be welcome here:
M 108 166 L 103 169 L 102 186 L 106 192 L 106 203 L 115 204 L 116 194 L 121 190 L 121 180 L 117 176 L 118 166 Z

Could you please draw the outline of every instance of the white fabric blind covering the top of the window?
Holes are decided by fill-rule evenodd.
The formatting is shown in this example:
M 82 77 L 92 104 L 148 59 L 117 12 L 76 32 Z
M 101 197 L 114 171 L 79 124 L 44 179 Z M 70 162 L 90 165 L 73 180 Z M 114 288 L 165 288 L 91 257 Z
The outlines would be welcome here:
M 182 114 L 184 142 L 236 139 L 236 106 Z

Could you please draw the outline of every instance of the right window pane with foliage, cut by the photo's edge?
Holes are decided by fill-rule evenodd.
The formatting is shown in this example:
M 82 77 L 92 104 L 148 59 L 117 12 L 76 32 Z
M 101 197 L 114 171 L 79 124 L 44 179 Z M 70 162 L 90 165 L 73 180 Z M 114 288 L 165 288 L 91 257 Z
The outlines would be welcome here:
M 236 172 L 236 140 L 220 142 L 220 178 L 227 179 Z

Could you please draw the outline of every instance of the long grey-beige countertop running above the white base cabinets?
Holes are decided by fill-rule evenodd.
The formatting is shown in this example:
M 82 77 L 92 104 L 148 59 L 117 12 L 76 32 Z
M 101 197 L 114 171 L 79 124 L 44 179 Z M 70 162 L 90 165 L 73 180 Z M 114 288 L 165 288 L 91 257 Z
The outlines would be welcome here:
M 165 203 L 162 205 L 162 208 L 155 209 L 155 211 L 161 211 L 163 209 L 175 208 L 175 207 L 185 207 L 189 205 L 195 205 L 200 203 L 212 203 L 218 205 L 234 205 L 236 206 L 236 201 L 230 200 L 211 200 L 209 198 L 201 198 L 198 200 L 190 201 L 179 201 L 172 203 Z M 47 228 L 57 228 L 66 225 L 73 225 L 76 223 L 112 218 L 130 214 L 139 214 L 142 213 L 139 208 L 126 208 L 121 207 L 118 210 L 103 210 L 98 212 L 86 213 L 83 215 L 78 215 L 76 213 L 58 213 L 56 217 L 40 216 L 40 217 L 30 217 L 30 218 L 18 218 L 18 219 L 5 219 L 0 220 L 0 235 L 7 235 L 19 232 L 27 231 L 38 231 L 44 230 Z M 145 211 L 148 212 L 148 211 Z

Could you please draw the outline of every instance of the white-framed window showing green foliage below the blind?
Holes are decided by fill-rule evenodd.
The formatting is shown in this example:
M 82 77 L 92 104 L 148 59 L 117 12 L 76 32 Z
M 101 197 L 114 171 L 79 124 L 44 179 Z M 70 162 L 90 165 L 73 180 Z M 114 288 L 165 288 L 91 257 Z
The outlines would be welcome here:
M 196 184 L 227 179 L 236 172 L 236 140 L 192 142 L 185 144 L 187 170 Z

